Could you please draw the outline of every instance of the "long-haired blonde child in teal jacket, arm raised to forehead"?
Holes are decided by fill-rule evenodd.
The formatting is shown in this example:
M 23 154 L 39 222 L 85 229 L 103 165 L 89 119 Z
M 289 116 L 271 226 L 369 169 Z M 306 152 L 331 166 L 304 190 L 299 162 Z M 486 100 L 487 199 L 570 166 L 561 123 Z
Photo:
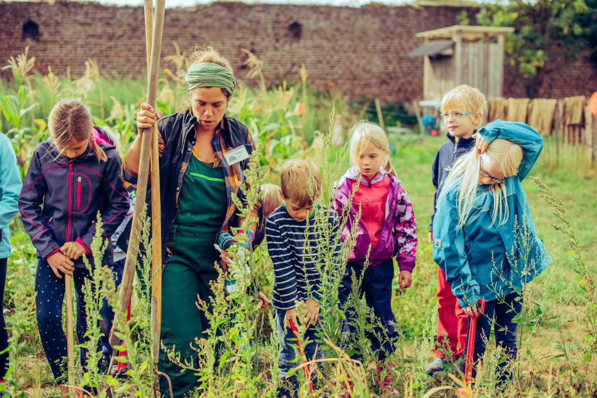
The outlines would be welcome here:
M 485 352 L 495 318 L 496 344 L 513 360 L 518 351 L 513 318 L 522 308 L 522 288 L 550 262 L 521 185 L 541 153 L 543 138 L 524 123 L 501 120 L 475 137 L 476 148 L 454 163 L 439 197 L 433 259 L 469 317 L 479 315 L 477 303 L 485 300 L 473 359 Z M 506 362 L 498 373 L 500 380 L 511 377 Z

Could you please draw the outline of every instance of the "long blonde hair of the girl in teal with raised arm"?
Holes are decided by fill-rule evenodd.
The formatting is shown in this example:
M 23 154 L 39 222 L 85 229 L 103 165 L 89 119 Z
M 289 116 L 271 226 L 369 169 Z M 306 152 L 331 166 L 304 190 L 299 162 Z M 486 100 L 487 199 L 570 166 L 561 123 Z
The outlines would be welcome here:
M 439 195 L 438 207 L 448 192 L 453 189 L 458 190 L 456 197 L 458 209 L 457 229 L 464 226 L 469 219 L 470 212 L 473 210 L 479 185 L 481 159 L 499 164 L 504 177 L 511 177 L 518 173 L 518 167 L 522 161 L 522 147 L 506 139 L 496 139 L 491 142 L 484 154 L 479 154 L 476 148 L 473 148 L 454 163 Z M 498 225 L 502 225 L 506 223 L 508 218 L 506 185 L 493 184 L 489 189 L 493 195 L 494 204 L 490 226 L 493 226 L 498 219 Z

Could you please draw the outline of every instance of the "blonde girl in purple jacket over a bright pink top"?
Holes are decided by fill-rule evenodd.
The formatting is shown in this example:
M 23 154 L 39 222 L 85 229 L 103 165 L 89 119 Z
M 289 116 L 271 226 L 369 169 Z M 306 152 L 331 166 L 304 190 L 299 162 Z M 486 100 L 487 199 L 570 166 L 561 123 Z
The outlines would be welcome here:
M 341 282 L 340 305 L 346 306 L 352 291 L 352 275 L 357 279 L 364 273 L 361 294 L 373 308 L 383 328 L 376 327 L 368 337 L 377 359 L 383 362 L 395 350 L 398 331 L 393 327 L 392 313 L 393 257 L 398 262 L 399 285 L 405 289 L 412 282 L 417 251 L 417 224 L 413 205 L 401 182 L 395 177 L 390 164 L 389 144 L 383 129 L 369 122 L 359 122 L 352 128 L 350 160 L 352 167 L 338 182 L 334 207 L 339 214 L 348 213 L 342 229 L 342 240 L 349 237 L 357 222 L 356 245 L 349 254 L 346 272 Z M 357 185 L 355 187 L 355 185 Z M 356 188 L 356 191 L 355 191 Z M 351 195 L 355 191 L 354 196 Z M 345 213 L 344 213 L 345 214 Z M 371 251 L 369 249 L 371 248 Z M 365 259 L 369 259 L 365 268 Z M 353 359 L 362 359 L 362 347 L 354 340 L 355 310 L 346 307 L 344 331 L 349 334 L 349 347 L 355 350 Z M 385 336 L 383 341 L 378 336 Z M 378 365 L 378 377 L 383 366 Z M 384 390 L 392 388 L 391 373 L 380 384 Z

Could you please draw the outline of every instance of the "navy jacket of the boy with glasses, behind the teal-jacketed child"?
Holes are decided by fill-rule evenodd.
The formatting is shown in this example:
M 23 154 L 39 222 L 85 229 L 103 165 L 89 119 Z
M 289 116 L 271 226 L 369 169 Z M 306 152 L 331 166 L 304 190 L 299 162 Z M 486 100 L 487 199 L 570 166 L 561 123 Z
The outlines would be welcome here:
M 433 186 L 435 186 L 435 196 L 433 197 L 433 213 L 431 213 L 431 222 L 429 223 L 429 232 L 433 231 L 433 216 L 435 216 L 435 205 L 439 198 L 439 192 L 444 185 L 444 180 L 450 173 L 450 166 L 454 161 L 470 151 L 475 146 L 474 138 L 460 138 L 458 142 L 450 133 L 446 133 L 448 141 L 439 147 L 438 153 L 431 165 L 431 176 Z

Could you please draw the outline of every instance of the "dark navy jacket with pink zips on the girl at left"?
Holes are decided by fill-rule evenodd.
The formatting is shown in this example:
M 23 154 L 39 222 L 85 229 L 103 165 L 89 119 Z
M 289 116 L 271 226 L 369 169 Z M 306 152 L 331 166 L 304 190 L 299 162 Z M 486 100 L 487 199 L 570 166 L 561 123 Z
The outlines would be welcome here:
M 77 241 L 89 251 L 97 212 L 106 239 L 127 215 L 128 192 L 120 179 L 121 160 L 114 140 L 99 127 L 94 129 L 94 134 L 101 136 L 100 147 L 107 161 L 98 162 L 91 145 L 82 155 L 67 158 L 49 140 L 33 153 L 19 195 L 19 210 L 41 259 L 56 253 L 65 242 Z M 88 258 L 91 261 L 91 256 Z M 107 245 L 103 260 L 106 265 L 112 263 L 112 245 Z M 75 261 L 76 268 L 84 266 L 82 259 Z

